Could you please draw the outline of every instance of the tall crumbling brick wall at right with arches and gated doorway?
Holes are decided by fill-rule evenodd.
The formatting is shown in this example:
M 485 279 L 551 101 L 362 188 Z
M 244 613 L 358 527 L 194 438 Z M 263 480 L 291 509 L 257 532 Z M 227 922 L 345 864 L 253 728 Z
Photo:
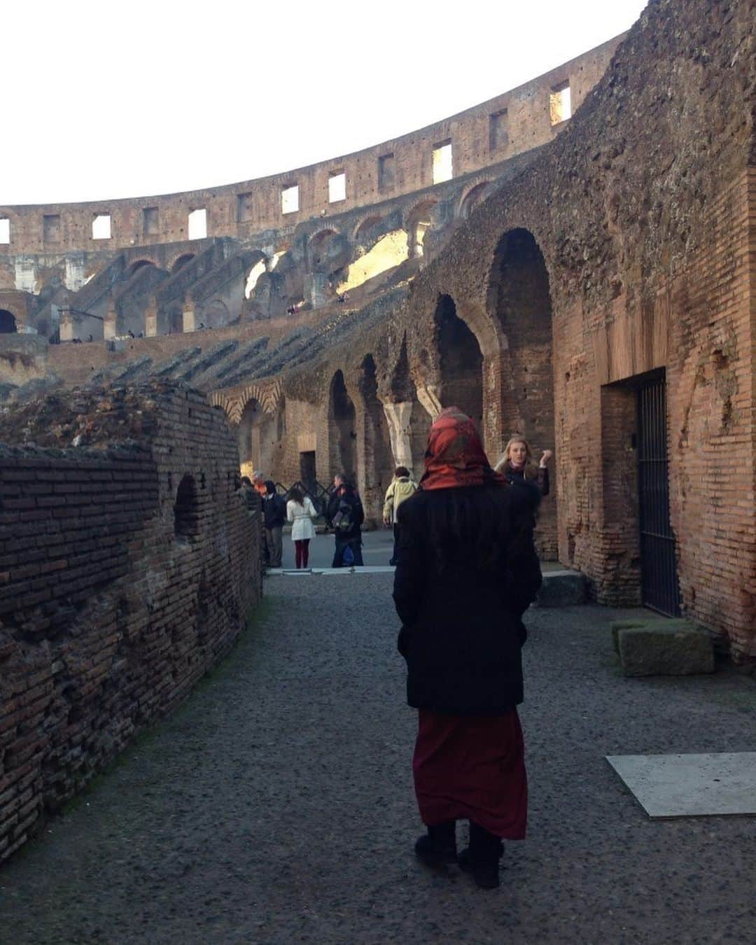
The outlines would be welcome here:
M 417 468 L 418 427 L 446 405 L 437 313 L 453 300 L 483 355 L 489 454 L 513 427 L 556 450 L 541 550 L 597 600 L 636 604 L 636 397 L 663 371 L 682 607 L 736 660 L 756 657 L 754 15 L 753 0 L 654 0 L 570 127 L 472 211 L 406 301 L 283 381 L 322 417 L 335 371 L 358 389 L 373 356 L 378 397 L 397 416 L 411 404 Z M 523 236 L 548 313 L 542 283 L 501 266 Z

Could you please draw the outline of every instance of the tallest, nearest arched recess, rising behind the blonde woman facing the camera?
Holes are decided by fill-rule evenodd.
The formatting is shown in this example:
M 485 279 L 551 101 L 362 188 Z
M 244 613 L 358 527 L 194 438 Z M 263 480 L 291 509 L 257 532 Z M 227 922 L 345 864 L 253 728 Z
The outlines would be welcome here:
M 511 230 L 494 254 L 489 310 L 507 338 L 503 352 L 502 441 L 514 433 L 527 438 L 536 459 L 555 447 L 552 308 L 549 275 L 536 238 Z M 502 445 L 503 445 L 502 444 Z M 552 478 L 556 478 L 554 466 Z M 544 557 L 557 555 L 556 502 L 541 506 L 538 540 Z

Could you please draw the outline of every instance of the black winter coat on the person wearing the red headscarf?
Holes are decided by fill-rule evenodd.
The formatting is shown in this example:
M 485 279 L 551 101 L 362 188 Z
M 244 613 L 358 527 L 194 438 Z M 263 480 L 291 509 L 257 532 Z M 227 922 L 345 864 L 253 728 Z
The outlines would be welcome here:
M 407 702 L 455 715 L 503 715 L 523 701 L 522 615 L 541 587 L 526 490 L 419 491 L 399 508 L 394 602 L 404 626 Z M 486 527 L 475 522 L 488 523 Z M 490 536 L 488 567 L 455 552 L 455 526 Z

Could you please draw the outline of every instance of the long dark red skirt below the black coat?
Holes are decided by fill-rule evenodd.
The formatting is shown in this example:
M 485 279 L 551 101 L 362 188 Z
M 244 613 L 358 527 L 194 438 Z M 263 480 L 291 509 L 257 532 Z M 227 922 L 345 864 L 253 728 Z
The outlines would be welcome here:
M 496 836 L 522 840 L 527 821 L 523 730 L 507 715 L 419 710 L 412 770 L 422 822 L 470 819 Z

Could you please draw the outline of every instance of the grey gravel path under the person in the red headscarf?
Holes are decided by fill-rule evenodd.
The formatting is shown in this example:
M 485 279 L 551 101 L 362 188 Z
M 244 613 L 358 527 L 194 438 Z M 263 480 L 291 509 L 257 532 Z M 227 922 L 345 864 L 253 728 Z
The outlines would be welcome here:
M 228 661 L 0 871 L 0 942 L 753 942 L 756 819 L 650 821 L 604 760 L 753 750 L 753 679 L 622 679 L 610 611 L 531 610 L 529 836 L 484 892 L 412 853 L 390 588 L 269 578 Z

